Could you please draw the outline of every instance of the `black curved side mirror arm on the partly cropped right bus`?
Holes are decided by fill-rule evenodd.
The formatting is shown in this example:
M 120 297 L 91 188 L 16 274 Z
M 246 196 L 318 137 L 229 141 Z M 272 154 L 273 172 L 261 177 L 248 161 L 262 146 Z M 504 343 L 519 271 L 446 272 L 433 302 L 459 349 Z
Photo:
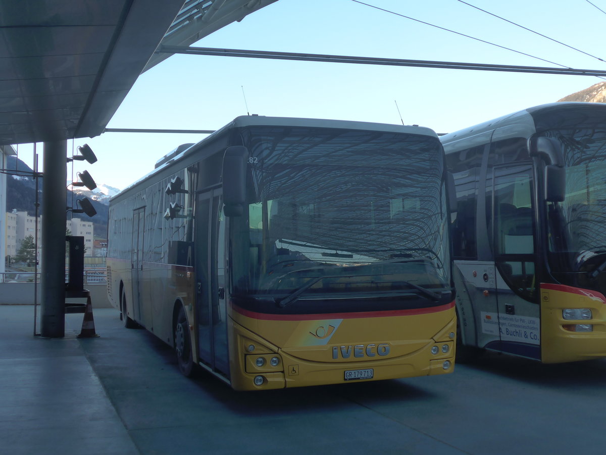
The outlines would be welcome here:
M 530 155 L 545 161 L 543 181 L 545 200 L 562 202 L 566 195 L 566 169 L 560 143 L 553 138 L 537 137 L 531 140 Z

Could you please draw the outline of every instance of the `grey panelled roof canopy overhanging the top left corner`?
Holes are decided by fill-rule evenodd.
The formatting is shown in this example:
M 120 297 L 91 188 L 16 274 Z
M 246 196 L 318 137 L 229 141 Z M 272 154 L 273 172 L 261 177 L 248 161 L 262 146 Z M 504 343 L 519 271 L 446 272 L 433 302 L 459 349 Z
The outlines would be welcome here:
M 0 145 L 99 135 L 145 69 L 276 0 L 0 2 Z

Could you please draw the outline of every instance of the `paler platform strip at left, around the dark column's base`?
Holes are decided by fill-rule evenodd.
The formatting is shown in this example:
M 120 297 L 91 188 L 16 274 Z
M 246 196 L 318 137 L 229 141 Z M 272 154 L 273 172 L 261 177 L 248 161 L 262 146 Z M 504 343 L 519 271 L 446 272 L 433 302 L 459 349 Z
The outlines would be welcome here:
M 112 310 L 95 315 L 103 311 Z M 68 314 L 64 338 L 42 339 L 33 305 L 0 305 L 1 453 L 139 453 L 88 362 L 83 345 L 96 340 L 77 338 L 81 326 L 82 314 Z

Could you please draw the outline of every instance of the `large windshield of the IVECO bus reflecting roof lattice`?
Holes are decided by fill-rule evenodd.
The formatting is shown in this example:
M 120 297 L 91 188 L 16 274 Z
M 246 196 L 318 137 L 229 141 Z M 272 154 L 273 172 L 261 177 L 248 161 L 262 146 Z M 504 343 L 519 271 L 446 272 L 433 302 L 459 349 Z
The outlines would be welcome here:
M 450 298 L 436 138 L 293 127 L 243 136 L 254 201 L 232 218 L 236 294 Z

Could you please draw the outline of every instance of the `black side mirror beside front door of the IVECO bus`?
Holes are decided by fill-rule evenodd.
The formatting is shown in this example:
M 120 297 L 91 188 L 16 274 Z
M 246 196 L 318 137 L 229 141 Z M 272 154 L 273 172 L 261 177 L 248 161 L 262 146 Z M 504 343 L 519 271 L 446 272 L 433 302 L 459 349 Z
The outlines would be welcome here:
M 248 149 L 231 146 L 223 156 L 223 212 L 226 217 L 241 217 L 246 205 Z

